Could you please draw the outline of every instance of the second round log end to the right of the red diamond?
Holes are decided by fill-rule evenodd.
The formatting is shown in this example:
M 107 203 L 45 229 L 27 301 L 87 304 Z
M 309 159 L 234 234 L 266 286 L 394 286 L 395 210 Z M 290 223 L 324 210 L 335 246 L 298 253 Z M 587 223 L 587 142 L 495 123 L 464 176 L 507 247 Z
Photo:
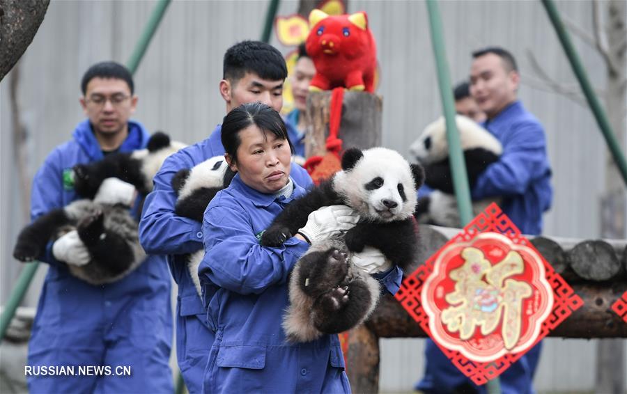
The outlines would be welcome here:
M 616 250 L 601 239 L 580 242 L 567 255 L 575 274 L 589 281 L 608 281 L 623 272 Z

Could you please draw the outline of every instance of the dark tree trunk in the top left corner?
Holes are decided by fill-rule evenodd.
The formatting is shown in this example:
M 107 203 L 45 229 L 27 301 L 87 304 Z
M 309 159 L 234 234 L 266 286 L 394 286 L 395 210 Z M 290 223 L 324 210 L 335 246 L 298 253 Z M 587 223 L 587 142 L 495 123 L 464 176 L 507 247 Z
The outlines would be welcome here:
M 0 81 L 33 41 L 49 2 L 0 0 Z

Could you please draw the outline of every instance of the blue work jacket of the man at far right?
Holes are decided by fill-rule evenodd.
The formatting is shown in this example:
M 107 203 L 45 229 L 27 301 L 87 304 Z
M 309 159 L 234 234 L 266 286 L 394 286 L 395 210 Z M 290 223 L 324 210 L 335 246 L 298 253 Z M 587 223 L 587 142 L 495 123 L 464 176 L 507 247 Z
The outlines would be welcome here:
M 500 207 L 520 232 L 540 234 L 553 198 L 542 125 L 516 101 L 483 127 L 501 142 L 503 154 L 479 175 L 472 198 L 502 196 Z

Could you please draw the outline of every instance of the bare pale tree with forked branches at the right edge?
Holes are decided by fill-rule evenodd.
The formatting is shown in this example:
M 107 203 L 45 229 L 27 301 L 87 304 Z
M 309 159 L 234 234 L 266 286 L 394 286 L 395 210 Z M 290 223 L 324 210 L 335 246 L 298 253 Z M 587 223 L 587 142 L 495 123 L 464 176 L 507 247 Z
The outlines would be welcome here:
M 595 90 L 605 102 L 607 118 L 623 151 L 627 134 L 627 1 L 592 0 L 592 31 L 582 29 L 563 15 L 568 29 L 601 56 L 605 65 L 605 88 Z M 529 63 L 535 77 L 527 83 L 537 88 L 564 95 L 578 104 L 586 105 L 575 84 L 566 86 L 552 79 L 541 67 L 533 53 L 528 51 Z M 587 106 L 586 106 L 587 107 Z M 626 237 L 626 194 L 617 164 L 606 151 L 605 194 L 601 197 L 601 237 Z M 623 393 L 623 341 L 602 340 L 596 356 L 596 392 Z

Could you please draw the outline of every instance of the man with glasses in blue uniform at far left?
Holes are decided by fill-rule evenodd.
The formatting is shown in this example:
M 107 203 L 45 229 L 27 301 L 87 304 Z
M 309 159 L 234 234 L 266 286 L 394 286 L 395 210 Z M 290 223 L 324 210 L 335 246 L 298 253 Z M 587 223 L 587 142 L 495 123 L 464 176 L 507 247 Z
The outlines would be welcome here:
M 129 120 L 137 105 L 130 72 L 123 65 L 93 65 L 82 79 L 87 120 L 73 139 L 56 147 L 33 180 L 31 217 L 77 199 L 72 167 L 111 152 L 145 148 L 148 132 Z M 104 185 L 104 184 L 103 184 Z M 128 189 L 107 183 L 109 203 L 132 205 Z M 112 186 L 111 186 L 112 185 Z M 136 204 L 137 205 L 137 204 Z M 137 212 L 136 212 L 137 213 Z M 76 231 L 51 242 L 40 260 L 49 263 L 29 343 L 29 365 L 109 366 L 107 375 L 29 377 L 31 393 L 122 393 L 173 391 L 168 365 L 172 324 L 167 267 L 147 258 L 135 271 L 108 285 L 90 285 L 70 275 L 68 265 L 89 260 Z M 118 375 L 130 366 L 130 376 Z M 34 368 L 33 368 L 34 369 Z

